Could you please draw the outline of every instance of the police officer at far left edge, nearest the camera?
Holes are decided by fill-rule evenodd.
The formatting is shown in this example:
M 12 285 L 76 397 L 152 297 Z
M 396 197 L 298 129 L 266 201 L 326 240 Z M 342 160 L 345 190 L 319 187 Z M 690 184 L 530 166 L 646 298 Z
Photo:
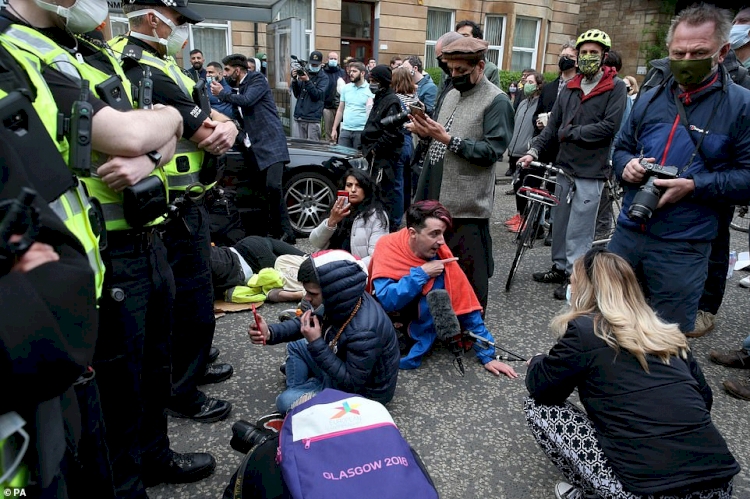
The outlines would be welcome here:
M 86 486 L 111 497 L 108 471 L 94 476 L 97 460 L 77 438 L 88 429 L 82 416 L 99 410 L 90 375 L 104 276 L 99 224 L 61 156 L 67 141 L 54 142 L 42 122 L 57 106 L 39 67 L 0 39 L 0 75 L 0 488 L 74 497 L 89 490 L 85 464 Z M 108 465 L 106 453 L 100 461 Z

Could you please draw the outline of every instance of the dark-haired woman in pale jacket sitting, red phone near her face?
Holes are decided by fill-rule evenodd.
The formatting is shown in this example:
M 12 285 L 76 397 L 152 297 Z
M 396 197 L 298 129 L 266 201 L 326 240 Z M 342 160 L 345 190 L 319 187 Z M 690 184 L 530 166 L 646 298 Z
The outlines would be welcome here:
M 380 190 L 370 176 L 351 168 L 342 177 L 349 198 L 340 197 L 331 214 L 310 233 L 310 244 L 316 249 L 342 249 L 370 263 L 375 243 L 388 234 L 388 214 Z

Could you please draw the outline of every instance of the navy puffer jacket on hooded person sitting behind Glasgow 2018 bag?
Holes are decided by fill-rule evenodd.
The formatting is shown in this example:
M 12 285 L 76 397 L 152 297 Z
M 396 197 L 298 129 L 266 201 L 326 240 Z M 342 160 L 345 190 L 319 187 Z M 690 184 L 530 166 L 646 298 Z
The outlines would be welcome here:
M 365 293 L 367 275 L 351 261 L 334 261 L 316 267 L 326 316 L 323 337 L 307 348 L 320 368 L 331 377 L 333 388 L 357 393 L 382 404 L 396 391 L 399 350 L 396 330 L 380 304 Z M 332 351 L 328 344 L 346 323 L 357 301 L 359 311 L 344 328 Z M 269 344 L 301 337 L 300 320 L 294 319 L 271 328 Z

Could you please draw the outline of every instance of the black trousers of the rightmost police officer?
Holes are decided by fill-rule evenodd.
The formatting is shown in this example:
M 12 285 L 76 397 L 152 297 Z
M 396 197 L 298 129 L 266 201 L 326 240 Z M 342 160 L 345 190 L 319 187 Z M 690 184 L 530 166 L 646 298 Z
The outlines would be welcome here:
M 164 232 L 177 295 L 173 307 L 172 397 L 170 408 L 198 412 L 206 395 L 198 382 L 206 372 L 216 329 L 211 282 L 211 233 L 202 204 L 188 202 L 179 220 Z

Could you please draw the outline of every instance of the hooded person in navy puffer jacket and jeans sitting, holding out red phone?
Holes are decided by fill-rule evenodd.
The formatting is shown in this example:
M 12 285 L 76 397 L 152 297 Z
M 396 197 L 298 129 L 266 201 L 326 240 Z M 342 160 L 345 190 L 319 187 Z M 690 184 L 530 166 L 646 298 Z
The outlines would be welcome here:
M 278 410 L 286 413 L 300 397 L 324 388 L 390 402 L 398 378 L 396 331 L 365 291 L 361 262 L 341 250 L 313 253 L 300 265 L 298 279 L 310 309 L 271 326 L 260 318 L 249 330 L 255 344 L 291 342 L 287 388 L 276 398 Z

